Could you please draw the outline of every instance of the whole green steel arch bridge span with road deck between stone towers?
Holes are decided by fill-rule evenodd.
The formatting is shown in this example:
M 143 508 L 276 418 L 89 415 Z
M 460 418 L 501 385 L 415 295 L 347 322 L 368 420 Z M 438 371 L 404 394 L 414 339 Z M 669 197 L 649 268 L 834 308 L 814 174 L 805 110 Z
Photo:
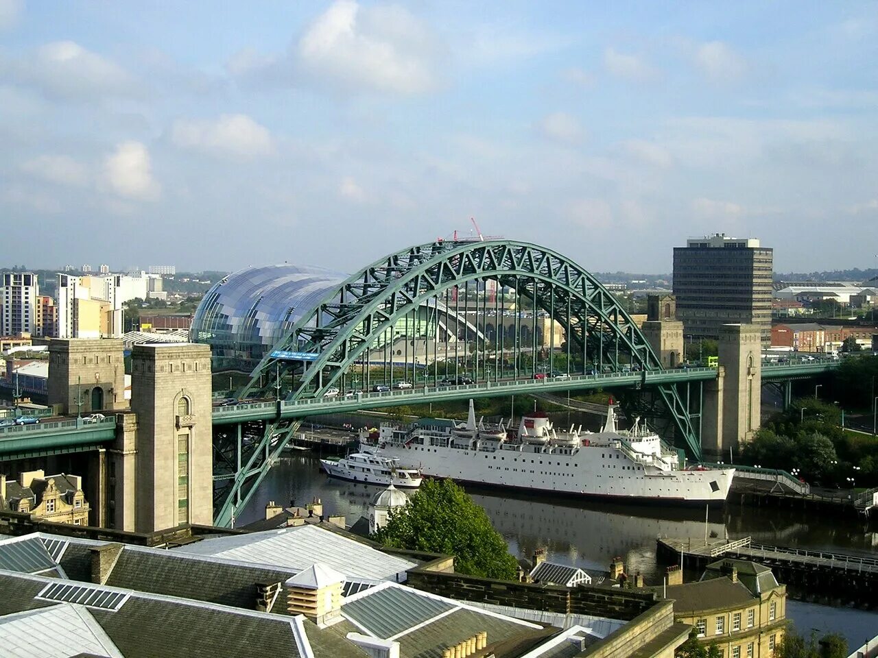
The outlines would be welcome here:
M 501 304 L 502 290 L 510 291 L 511 304 Z M 431 346 L 428 337 L 415 336 L 425 312 L 435 331 L 453 325 L 456 340 Z M 473 324 L 471 315 L 482 319 Z M 490 327 L 486 318 L 495 320 Z M 560 325 L 563 343 L 556 345 L 551 330 L 540 340 L 541 318 Z M 406 356 L 397 361 L 400 336 Z M 424 344 L 422 368 L 409 358 L 415 340 Z M 794 373 L 788 365 L 776 373 L 812 376 L 830 367 L 821 362 Z M 301 420 L 329 411 L 609 388 L 626 414 L 651 418 L 700 460 L 701 388 L 692 385 L 715 378 L 714 368 L 662 368 L 615 297 L 557 252 L 513 240 L 410 247 L 328 292 L 253 369 L 236 396 L 240 404 L 214 410 L 214 520 L 229 525 Z M 411 388 L 394 387 L 413 380 Z M 258 434 L 242 433 L 243 424 L 257 420 Z

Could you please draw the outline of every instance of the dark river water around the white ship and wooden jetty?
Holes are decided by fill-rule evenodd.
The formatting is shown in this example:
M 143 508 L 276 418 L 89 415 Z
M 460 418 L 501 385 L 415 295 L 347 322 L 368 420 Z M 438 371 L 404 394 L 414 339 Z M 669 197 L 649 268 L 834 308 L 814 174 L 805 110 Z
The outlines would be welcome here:
M 264 514 L 265 504 L 304 505 L 319 497 L 324 513 L 343 515 L 348 525 L 367 515 L 379 487 L 333 480 L 320 473 L 315 454 L 301 453 L 281 460 L 237 519 L 246 525 Z M 693 545 L 708 536 L 751 536 L 754 541 L 790 547 L 835 549 L 873 555 L 878 533 L 857 519 L 819 518 L 813 512 L 754 508 L 729 504 L 724 510 L 663 509 L 655 506 L 562 504 L 552 497 L 509 495 L 498 490 L 469 490 L 503 535 L 516 557 L 531 559 L 538 547 L 548 558 L 584 568 L 607 570 L 609 561 L 621 556 L 629 573 L 640 571 L 648 584 L 660 584 L 663 565 L 656 563 L 659 536 L 691 539 Z M 686 574 L 687 581 L 697 574 Z M 878 635 L 878 613 L 825 605 L 788 602 L 788 617 L 800 632 L 838 631 L 852 650 Z

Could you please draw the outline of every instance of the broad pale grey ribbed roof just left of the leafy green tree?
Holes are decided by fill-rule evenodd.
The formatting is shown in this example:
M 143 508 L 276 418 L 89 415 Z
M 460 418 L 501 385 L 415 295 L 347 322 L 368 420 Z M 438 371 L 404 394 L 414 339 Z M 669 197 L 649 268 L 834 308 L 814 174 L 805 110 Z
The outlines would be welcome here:
M 366 580 L 402 581 L 406 579 L 407 570 L 417 566 L 412 561 L 383 553 L 341 533 L 311 524 L 263 533 L 214 537 L 173 550 L 296 571 L 307 569 L 315 562 L 323 562 L 345 576 Z

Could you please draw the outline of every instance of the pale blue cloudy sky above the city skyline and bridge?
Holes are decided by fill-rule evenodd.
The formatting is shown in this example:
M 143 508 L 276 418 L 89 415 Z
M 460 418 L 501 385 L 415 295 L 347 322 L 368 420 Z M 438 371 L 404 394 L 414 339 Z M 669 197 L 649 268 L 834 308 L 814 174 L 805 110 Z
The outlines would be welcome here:
M 0 264 L 874 268 L 876 62 L 875 2 L 0 0 Z

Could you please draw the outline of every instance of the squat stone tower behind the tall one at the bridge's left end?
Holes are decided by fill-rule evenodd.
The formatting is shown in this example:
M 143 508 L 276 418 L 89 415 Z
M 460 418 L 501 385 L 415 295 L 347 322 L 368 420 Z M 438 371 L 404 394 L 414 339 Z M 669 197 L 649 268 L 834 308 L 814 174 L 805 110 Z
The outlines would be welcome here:
M 121 340 L 49 341 L 49 404 L 65 415 L 125 409 L 123 347 Z

